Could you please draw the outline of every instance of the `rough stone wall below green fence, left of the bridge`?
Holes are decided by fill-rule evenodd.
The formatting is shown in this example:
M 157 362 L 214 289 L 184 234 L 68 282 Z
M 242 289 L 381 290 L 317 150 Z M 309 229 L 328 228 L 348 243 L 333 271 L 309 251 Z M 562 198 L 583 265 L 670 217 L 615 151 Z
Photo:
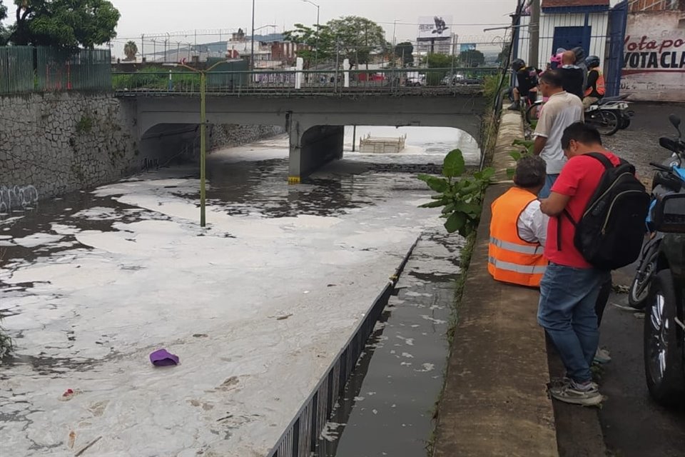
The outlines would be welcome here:
M 1 194 L 32 186 L 42 199 L 131 173 L 137 154 L 131 108 L 108 94 L 0 97 Z M 4 197 L 0 205 L 9 206 Z

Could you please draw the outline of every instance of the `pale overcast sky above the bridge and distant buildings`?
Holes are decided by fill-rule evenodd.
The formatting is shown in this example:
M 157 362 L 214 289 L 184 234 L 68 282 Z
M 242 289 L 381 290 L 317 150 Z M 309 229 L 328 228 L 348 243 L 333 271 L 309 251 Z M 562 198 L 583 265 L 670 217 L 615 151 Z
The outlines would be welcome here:
M 237 29 L 249 33 L 251 0 L 111 0 L 121 12 L 118 40 L 141 34 L 163 34 L 194 29 Z M 364 16 L 385 28 L 392 41 L 397 19 L 397 41 L 415 39 L 419 16 L 452 16 L 452 31 L 460 36 L 484 35 L 483 29 L 509 24 L 507 16 L 516 0 L 313 0 L 320 6 L 320 23 L 340 16 Z M 276 25 L 277 31 L 293 24 L 316 23 L 315 6 L 303 0 L 255 0 L 255 29 Z M 381 24 L 386 23 L 386 24 Z M 256 34 L 273 31 L 266 27 Z M 502 34 L 502 31 L 489 35 Z M 173 39 L 172 39 L 173 41 Z M 181 41 L 181 40 L 179 40 Z M 198 40 L 199 41 L 199 40 Z M 203 39 L 203 41 L 212 41 Z

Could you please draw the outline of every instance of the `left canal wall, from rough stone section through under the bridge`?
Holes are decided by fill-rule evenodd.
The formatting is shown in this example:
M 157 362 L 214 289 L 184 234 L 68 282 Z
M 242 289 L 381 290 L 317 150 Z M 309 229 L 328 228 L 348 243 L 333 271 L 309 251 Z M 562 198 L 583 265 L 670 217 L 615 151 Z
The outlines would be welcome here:
M 137 124 L 135 104 L 111 94 L 0 97 L 0 211 L 198 155 L 197 124 L 161 125 L 142 136 Z M 283 131 L 210 126 L 208 147 L 245 144 Z

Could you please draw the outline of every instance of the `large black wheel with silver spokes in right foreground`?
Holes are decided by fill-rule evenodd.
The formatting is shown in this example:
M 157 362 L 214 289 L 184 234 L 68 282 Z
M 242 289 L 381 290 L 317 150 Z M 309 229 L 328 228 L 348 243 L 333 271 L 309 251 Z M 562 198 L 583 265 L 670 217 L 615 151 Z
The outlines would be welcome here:
M 654 277 L 644 316 L 644 374 L 652 398 L 663 406 L 685 401 L 683 343 L 679 340 L 676 289 L 671 271 Z

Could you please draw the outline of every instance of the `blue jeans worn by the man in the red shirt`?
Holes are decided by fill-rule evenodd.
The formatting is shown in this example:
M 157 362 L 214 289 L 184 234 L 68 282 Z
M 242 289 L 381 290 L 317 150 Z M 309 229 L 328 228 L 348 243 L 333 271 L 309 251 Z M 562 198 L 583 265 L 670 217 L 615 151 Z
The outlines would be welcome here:
M 549 263 L 540 283 L 537 322 L 557 346 L 567 376 L 592 380 L 590 366 L 599 343 L 594 308 L 607 271 Z

